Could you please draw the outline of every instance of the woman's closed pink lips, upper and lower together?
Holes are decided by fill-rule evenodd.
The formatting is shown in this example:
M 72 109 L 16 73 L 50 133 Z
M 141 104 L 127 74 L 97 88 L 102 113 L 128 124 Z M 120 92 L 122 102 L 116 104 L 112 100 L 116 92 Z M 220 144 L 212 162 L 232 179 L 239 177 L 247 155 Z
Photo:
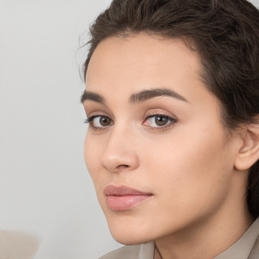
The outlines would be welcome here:
M 150 198 L 151 193 L 141 192 L 127 186 L 108 185 L 104 189 L 107 205 L 112 210 L 128 210 Z

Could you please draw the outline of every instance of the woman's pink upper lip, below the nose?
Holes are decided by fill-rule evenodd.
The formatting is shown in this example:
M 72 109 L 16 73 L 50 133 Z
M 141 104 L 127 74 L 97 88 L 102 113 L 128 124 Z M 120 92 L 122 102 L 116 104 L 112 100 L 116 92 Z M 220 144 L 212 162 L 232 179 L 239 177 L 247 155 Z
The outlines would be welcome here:
M 104 189 L 105 195 L 113 195 L 113 196 L 126 196 L 126 195 L 152 195 L 151 193 L 142 192 L 137 189 L 128 187 L 128 186 L 114 186 L 108 185 Z

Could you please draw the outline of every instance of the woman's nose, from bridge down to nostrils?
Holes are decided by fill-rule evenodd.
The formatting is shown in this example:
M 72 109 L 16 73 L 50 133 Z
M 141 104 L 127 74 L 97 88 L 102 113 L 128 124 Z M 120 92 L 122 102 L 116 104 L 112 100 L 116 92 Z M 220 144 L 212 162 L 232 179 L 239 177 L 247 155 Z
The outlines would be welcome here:
M 113 129 L 101 155 L 101 165 L 110 172 L 131 171 L 139 166 L 133 130 Z

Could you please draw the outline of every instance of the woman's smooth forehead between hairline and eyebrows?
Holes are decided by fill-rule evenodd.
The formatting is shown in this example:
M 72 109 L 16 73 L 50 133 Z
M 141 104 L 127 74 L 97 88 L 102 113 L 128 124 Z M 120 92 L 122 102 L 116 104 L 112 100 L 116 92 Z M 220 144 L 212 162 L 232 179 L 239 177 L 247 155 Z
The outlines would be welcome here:
M 203 84 L 197 52 L 179 38 L 145 33 L 109 37 L 100 42 L 90 60 L 86 89 L 130 96 L 150 88 L 170 88 L 185 95 Z

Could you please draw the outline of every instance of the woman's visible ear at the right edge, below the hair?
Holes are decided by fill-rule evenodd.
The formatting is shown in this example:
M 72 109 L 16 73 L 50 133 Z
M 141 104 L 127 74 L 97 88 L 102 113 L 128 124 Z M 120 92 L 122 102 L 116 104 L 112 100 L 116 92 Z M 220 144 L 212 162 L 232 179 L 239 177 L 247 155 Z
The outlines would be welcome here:
M 238 170 L 250 168 L 259 159 L 259 124 L 248 124 L 242 144 L 235 159 Z

